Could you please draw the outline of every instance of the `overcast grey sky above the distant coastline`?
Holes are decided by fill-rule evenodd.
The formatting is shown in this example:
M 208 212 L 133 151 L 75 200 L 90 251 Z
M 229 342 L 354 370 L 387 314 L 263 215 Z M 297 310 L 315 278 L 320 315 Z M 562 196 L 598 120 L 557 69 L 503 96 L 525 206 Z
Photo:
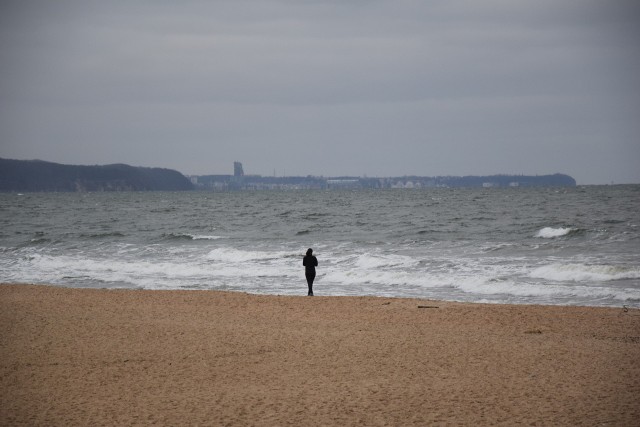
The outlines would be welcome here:
M 640 183 L 640 2 L 2 0 L 0 157 Z

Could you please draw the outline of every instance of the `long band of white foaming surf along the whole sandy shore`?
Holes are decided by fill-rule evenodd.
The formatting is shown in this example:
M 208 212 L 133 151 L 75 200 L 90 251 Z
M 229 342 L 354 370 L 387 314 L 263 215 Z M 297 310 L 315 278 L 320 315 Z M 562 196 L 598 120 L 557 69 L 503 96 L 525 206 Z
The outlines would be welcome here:
M 71 286 L 123 286 L 146 289 L 233 289 L 296 294 L 306 282 L 302 255 L 209 245 L 135 246 L 118 250 L 56 255 L 25 248 L 12 260 L 0 258 L 0 281 Z M 178 252 L 176 252 L 179 249 Z M 298 257 L 299 255 L 299 257 Z M 640 278 L 640 267 L 588 262 L 529 267 L 513 258 L 426 256 L 369 251 L 321 251 L 316 289 L 325 295 L 411 296 L 498 302 L 576 303 L 640 299 L 640 290 L 618 279 Z M 597 262 L 597 261 L 594 261 Z

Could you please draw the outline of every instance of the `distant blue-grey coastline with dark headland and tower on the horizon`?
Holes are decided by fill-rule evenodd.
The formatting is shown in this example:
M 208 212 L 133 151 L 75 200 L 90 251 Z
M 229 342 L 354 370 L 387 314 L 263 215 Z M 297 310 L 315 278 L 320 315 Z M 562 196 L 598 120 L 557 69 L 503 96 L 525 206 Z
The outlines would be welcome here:
M 236 162 L 238 163 L 238 162 Z M 238 163 L 239 164 L 239 163 Z M 192 175 L 125 164 L 78 166 L 0 158 L 0 192 L 212 191 L 276 189 L 575 187 L 569 175 L 402 176 L 388 178 Z

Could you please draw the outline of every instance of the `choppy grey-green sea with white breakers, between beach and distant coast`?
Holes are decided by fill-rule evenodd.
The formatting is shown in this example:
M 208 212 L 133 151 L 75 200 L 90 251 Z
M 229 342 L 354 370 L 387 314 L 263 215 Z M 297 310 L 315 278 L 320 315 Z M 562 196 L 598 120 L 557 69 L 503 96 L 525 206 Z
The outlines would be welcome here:
M 0 194 L 0 283 L 640 307 L 640 185 Z

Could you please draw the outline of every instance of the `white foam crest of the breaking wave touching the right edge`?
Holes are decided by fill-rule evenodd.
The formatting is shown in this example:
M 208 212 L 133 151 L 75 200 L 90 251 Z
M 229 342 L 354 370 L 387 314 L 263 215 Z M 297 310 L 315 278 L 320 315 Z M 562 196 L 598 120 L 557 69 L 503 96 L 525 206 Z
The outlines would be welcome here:
M 536 268 L 529 276 L 561 282 L 607 282 L 638 279 L 640 268 L 616 265 L 551 264 Z

